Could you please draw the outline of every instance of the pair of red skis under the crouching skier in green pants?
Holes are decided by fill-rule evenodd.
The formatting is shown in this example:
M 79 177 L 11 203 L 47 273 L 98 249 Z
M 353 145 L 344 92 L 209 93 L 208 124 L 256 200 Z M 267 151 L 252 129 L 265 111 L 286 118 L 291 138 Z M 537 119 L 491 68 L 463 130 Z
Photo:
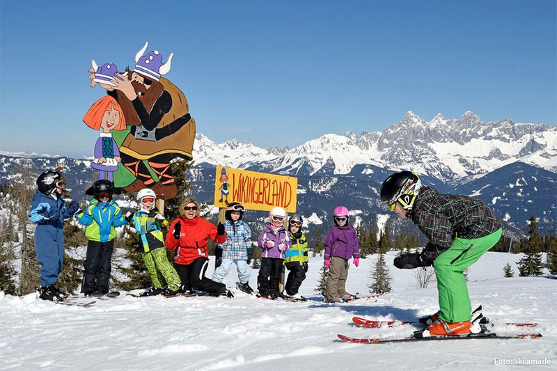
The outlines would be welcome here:
M 478 320 L 478 324 L 482 331 L 480 333 L 467 333 L 464 335 L 450 335 L 450 336 L 425 336 L 420 337 L 416 335 L 407 336 L 405 338 L 351 338 L 350 336 L 345 336 L 338 334 L 338 338 L 345 342 L 354 342 L 359 344 L 375 344 L 375 343 L 384 343 L 384 342 L 416 342 L 416 341 L 431 341 L 431 340 L 468 340 L 468 339 L 523 339 L 523 338 L 541 338 L 542 335 L 540 333 L 517 333 L 512 335 L 506 336 L 499 336 L 496 333 L 489 333 L 487 330 L 487 326 L 496 326 L 499 324 L 493 324 L 489 322 L 489 320 L 480 313 L 482 310 L 482 306 L 476 308 L 473 311 L 472 317 L 473 319 Z M 368 329 L 378 329 L 380 327 L 395 327 L 395 326 L 425 326 L 420 321 L 377 321 L 373 319 L 365 319 L 361 317 L 353 317 L 352 322 L 354 324 L 365 327 Z M 504 326 L 514 326 L 517 328 L 535 328 L 538 326 L 536 323 L 519 323 L 519 322 L 505 322 L 502 325 Z M 419 331 L 418 331 L 418 335 Z

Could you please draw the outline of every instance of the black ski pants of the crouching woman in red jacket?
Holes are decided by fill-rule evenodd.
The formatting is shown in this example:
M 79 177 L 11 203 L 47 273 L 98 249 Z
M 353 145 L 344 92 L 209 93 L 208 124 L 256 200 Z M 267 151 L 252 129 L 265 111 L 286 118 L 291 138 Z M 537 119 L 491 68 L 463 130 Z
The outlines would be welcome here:
M 178 272 L 185 290 L 191 290 L 191 287 L 193 287 L 196 290 L 207 292 L 207 294 L 213 296 L 226 292 L 226 285 L 224 283 L 214 282 L 205 277 L 207 267 L 209 267 L 209 259 L 201 257 L 190 264 L 174 263 L 174 269 Z

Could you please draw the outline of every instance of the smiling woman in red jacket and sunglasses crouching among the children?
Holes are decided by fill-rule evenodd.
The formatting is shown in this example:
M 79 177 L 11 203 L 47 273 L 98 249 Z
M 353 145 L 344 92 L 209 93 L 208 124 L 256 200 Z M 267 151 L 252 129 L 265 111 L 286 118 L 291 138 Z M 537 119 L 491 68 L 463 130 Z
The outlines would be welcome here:
M 207 294 L 230 296 L 226 285 L 211 281 L 205 277 L 209 265 L 207 238 L 217 244 L 226 241 L 224 226 L 215 227 L 210 221 L 199 217 L 199 204 L 193 198 L 180 205 L 180 218 L 172 222 L 166 233 L 166 248 L 175 250 L 174 268 L 182 280 L 183 290 L 196 290 Z

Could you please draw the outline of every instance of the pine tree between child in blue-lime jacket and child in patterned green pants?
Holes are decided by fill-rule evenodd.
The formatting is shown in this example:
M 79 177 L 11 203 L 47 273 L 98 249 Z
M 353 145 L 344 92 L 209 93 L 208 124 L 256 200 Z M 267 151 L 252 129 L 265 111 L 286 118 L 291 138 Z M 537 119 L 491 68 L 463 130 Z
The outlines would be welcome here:
M 118 246 L 124 250 L 123 255 L 116 260 L 114 266 L 125 276 L 125 279 L 119 280 L 112 276 L 114 284 L 126 291 L 150 287 L 151 278 L 141 257 L 143 246 L 139 245 L 137 234 L 129 226 L 124 226 L 122 238 L 122 242 L 118 237 L 114 243 L 115 248 Z

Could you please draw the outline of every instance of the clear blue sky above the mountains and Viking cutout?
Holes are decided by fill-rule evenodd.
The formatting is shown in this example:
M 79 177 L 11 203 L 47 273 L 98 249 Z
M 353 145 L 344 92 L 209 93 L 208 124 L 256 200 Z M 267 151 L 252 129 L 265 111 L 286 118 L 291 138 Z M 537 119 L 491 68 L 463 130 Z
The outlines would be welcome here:
M 91 58 L 166 77 L 214 141 L 299 145 L 426 120 L 557 122 L 556 1 L 1 1 L 0 150 L 91 155 Z

